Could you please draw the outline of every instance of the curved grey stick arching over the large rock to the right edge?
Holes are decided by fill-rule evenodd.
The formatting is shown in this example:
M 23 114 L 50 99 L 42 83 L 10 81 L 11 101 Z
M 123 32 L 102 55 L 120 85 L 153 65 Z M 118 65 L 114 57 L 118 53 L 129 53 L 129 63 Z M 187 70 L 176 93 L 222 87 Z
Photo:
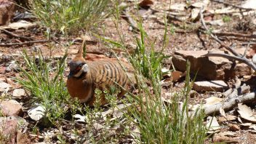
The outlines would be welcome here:
M 239 57 L 239 56 L 235 56 L 235 55 L 228 55 L 228 54 L 221 54 L 221 53 L 214 53 L 214 52 L 209 52 L 205 56 L 207 56 L 207 57 L 225 57 L 228 60 L 238 60 L 241 63 L 245 63 L 245 64 L 249 65 L 249 67 L 251 67 L 254 71 L 256 71 L 256 65 L 254 63 L 252 63 L 251 60 L 248 60 L 245 57 Z

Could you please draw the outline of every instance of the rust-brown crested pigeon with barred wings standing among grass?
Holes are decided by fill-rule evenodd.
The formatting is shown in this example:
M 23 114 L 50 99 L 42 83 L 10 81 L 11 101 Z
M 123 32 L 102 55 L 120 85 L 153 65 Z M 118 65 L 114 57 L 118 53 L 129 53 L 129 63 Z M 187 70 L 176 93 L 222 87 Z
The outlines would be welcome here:
M 70 73 L 67 79 L 68 92 L 72 98 L 78 98 L 80 103 L 89 106 L 95 104 L 95 89 L 100 89 L 100 105 L 105 105 L 104 90 L 113 85 L 121 87 L 117 97 L 127 93 L 127 89 L 136 83 L 134 68 L 129 63 L 103 58 L 100 60 L 85 60 L 82 42 L 76 56 L 69 63 Z

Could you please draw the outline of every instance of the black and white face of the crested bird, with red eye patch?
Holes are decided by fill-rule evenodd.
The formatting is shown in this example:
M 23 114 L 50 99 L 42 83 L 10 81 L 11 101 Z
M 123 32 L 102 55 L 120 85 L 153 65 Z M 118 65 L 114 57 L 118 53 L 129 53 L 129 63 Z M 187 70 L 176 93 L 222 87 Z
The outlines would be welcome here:
M 71 63 L 69 63 L 69 69 L 70 73 L 68 78 L 71 78 L 72 76 L 79 77 L 82 73 L 87 73 L 87 71 L 89 71 L 88 65 L 81 61 L 71 61 Z

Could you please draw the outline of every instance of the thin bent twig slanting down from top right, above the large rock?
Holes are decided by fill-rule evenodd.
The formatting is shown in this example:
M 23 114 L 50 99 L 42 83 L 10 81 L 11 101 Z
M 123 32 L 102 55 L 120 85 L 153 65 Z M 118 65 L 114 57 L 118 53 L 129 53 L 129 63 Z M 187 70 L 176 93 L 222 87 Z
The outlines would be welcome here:
M 202 8 L 200 9 L 200 17 L 201 17 L 201 24 L 204 26 L 204 29 L 209 31 L 207 28 L 207 25 L 204 22 L 204 15 L 202 13 Z M 212 39 L 215 39 L 222 47 L 225 47 L 225 49 L 228 49 L 229 52 L 231 52 L 233 55 L 241 56 L 239 53 L 237 53 L 232 47 L 229 47 L 223 43 L 223 41 L 220 41 L 220 39 L 217 38 L 217 36 L 214 36 L 212 33 L 209 33 L 209 36 L 212 37 Z

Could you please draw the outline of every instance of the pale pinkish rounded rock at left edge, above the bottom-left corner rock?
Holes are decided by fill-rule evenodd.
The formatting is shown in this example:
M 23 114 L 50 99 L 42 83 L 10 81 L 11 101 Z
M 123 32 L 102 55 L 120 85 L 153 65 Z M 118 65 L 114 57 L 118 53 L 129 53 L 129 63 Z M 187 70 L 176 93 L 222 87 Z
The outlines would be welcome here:
M 16 100 L 3 100 L 0 110 L 5 116 L 18 116 L 22 113 L 22 106 Z

